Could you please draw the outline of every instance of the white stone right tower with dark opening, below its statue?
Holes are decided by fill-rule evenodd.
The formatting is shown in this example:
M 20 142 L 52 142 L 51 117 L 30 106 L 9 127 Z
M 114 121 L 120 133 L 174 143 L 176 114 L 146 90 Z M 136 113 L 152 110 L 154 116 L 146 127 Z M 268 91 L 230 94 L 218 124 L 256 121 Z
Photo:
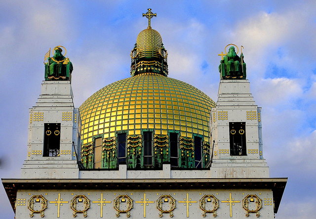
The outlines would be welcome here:
M 221 79 L 211 129 L 213 178 L 269 177 L 263 159 L 261 108 L 253 100 L 248 80 Z

